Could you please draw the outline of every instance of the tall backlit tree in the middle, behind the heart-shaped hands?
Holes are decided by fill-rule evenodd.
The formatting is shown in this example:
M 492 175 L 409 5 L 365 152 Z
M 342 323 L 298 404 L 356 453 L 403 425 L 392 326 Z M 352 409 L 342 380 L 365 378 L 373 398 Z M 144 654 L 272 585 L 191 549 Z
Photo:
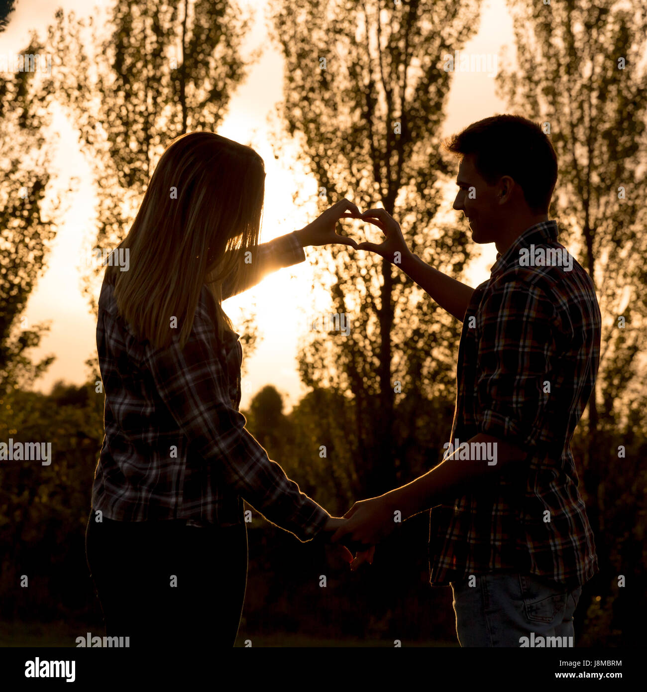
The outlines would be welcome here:
M 437 217 L 448 174 L 439 151 L 450 87 L 442 56 L 473 34 L 479 4 L 272 5 L 286 61 L 282 114 L 320 206 L 340 197 L 362 210 L 383 206 L 413 251 L 455 276 L 471 255 L 465 226 Z M 366 493 L 379 494 L 409 475 L 401 442 L 416 430 L 405 415 L 453 388 L 460 325 L 381 257 L 342 248 L 332 266 L 333 312 L 346 314 L 351 329 L 309 335 L 300 374 L 352 400 L 355 472 Z

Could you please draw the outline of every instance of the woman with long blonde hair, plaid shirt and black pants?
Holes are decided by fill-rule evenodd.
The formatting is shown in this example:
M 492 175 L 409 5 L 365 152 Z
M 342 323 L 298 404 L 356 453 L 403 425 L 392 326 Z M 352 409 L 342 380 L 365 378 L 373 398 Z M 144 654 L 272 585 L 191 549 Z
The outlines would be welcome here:
M 130 646 L 233 646 L 246 588 L 242 498 L 300 540 L 332 518 L 245 429 L 242 349 L 221 301 L 336 235 L 347 200 L 258 245 L 264 165 L 210 132 L 165 150 L 108 266 L 97 349 L 105 436 L 86 558 L 109 637 Z M 126 269 L 126 271 L 124 271 Z M 352 559 L 345 550 L 345 559 Z

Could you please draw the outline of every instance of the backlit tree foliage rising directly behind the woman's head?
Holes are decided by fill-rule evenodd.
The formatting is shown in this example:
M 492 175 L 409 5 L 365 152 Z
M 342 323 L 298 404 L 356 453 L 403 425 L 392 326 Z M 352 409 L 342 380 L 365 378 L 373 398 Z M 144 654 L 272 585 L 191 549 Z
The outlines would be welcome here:
M 48 86 L 93 167 L 95 246 L 112 248 L 125 237 L 165 147 L 222 122 L 250 64 L 240 51 L 250 17 L 235 0 L 118 0 L 107 21 L 91 15 L 86 22 L 62 10 L 55 20 L 48 30 L 55 65 Z M 84 286 L 95 312 L 100 271 Z M 242 333 L 248 353 L 252 326 L 246 320 Z

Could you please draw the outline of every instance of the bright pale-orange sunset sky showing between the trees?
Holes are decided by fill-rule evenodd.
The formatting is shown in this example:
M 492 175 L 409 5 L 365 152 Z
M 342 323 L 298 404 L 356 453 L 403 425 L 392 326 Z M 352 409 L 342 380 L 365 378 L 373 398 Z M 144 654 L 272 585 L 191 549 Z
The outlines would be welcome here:
M 246 3 L 242 3 L 246 4 Z M 82 0 L 20 0 L 11 17 L 10 25 L 0 36 L 0 53 L 20 52 L 26 46 L 28 31 L 37 30 L 42 36 L 53 21 L 55 7 L 67 12 L 74 10 L 82 16 L 91 10 L 91 3 Z M 262 226 L 262 241 L 267 241 L 291 230 L 302 228 L 315 217 L 313 203 L 296 207 L 293 192 L 314 194 L 316 183 L 305 179 L 289 152 L 275 158 L 271 143 L 271 125 L 268 116 L 282 98 L 282 57 L 268 41 L 265 3 L 253 3 L 257 10 L 253 31 L 245 44 L 245 51 L 264 46 L 264 54 L 252 67 L 246 81 L 239 86 L 229 104 L 228 115 L 218 129 L 226 137 L 250 143 L 266 163 L 266 198 Z M 506 44 L 512 46 L 512 25 L 503 0 L 491 0 L 482 5 L 480 30 L 466 44 L 466 53 L 498 55 Z M 443 135 L 465 127 L 470 122 L 494 113 L 505 112 L 495 98 L 495 80 L 485 73 L 457 72 L 446 113 Z M 30 356 L 37 360 L 46 354 L 55 354 L 56 361 L 36 383 L 36 388 L 48 391 L 60 379 L 80 384 L 86 379 L 84 361 L 95 356 L 95 318 L 89 304 L 81 294 L 82 252 L 94 246 L 95 208 L 91 171 L 80 153 L 73 129 L 62 113 L 55 117 L 55 129 L 60 133 L 55 165 L 60 174 L 58 185 L 65 189 L 71 178 L 78 179 L 77 192 L 65 198 L 66 215 L 48 256 L 48 268 L 39 278 L 27 304 L 28 325 L 51 320 L 51 331 L 42 339 L 42 347 L 33 349 Z M 450 191 L 453 195 L 453 190 Z M 456 218 L 460 212 L 451 210 L 452 197 L 448 197 L 447 211 Z M 450 217 L 451 218 L 451 217 Z M 489 277 L 489 268 L 495 260 L 493 245 L 482 246 L 482 255 L 468 270 L 466 280 L 472 286 Z M 224 308 L 236 322 L 239 309 L 255 306 L 261 342 L 246 362 L 242 408 L 250 397 L 271 383 L 286 397 L 291 408 L 305 393 L 296 370 L 298 339 L 307 330 L 312 316 L 312 269 L 309 259 L 318 248 L 307 248 L 306 262 L 283 269 L 268 277 L 255 289 L 224 303 Z M 352 253 L 352 251 L 351 251 Z M 97 284 L 97 297 L 98 297 Z

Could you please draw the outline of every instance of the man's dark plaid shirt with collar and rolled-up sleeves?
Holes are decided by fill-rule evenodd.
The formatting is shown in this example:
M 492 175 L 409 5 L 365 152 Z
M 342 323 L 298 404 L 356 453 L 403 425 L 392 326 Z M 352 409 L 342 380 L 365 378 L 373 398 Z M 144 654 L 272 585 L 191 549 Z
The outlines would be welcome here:
M 555 221 L 522 233 L 497 255 L 465 313 L 450 441 L 482 432 L 529 456 L 453 506 L 432 509 L 432 585 L 498 571 L 582 585 L 598 571 L 570 441 L 598 370 L 599 305 L 574 258 L 572 271 L 520 266 L 522 248 L 565 251 L 557 235 Z

